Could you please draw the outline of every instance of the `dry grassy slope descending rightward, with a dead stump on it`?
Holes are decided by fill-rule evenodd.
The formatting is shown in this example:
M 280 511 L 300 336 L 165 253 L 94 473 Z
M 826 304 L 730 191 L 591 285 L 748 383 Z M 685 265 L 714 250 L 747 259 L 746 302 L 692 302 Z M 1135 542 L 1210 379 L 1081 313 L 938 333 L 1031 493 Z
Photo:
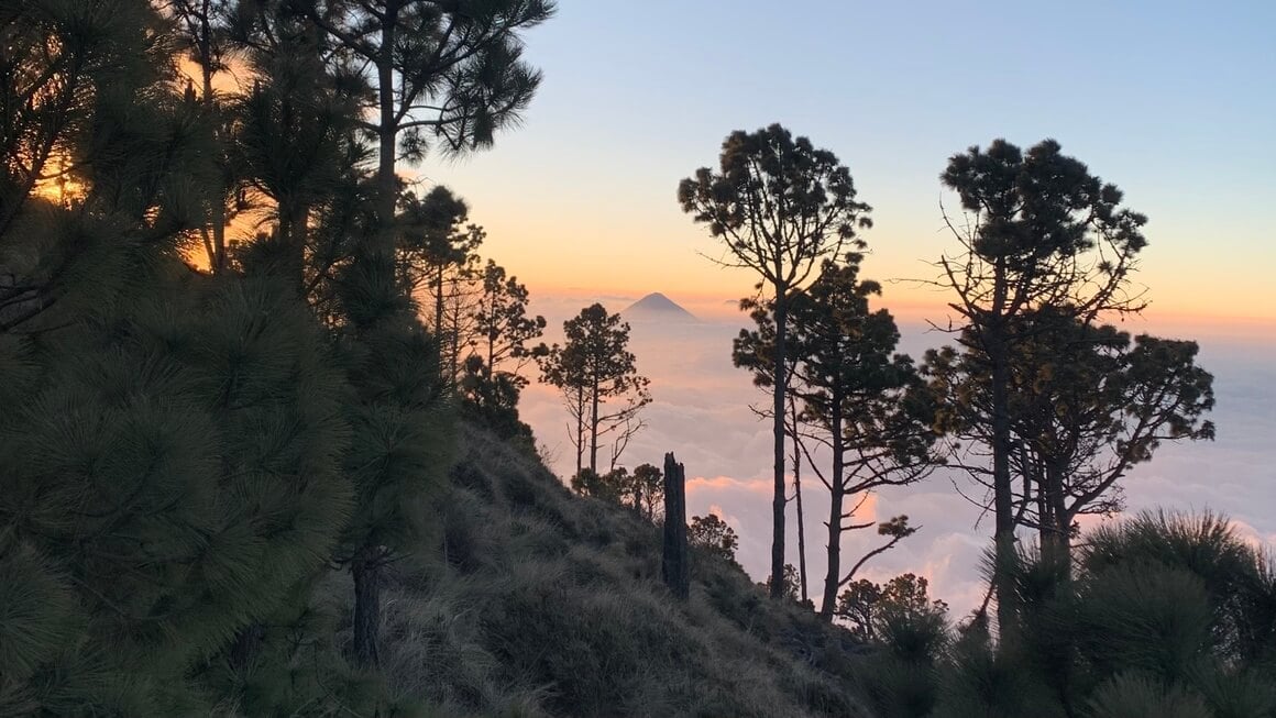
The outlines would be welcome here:
M 676 603 L 656 527 L 461 434 L 434 546 L 384 589 L 393 694 L 447 715 L 866 715 L 827 672 L 840 631 L 703 556 Z

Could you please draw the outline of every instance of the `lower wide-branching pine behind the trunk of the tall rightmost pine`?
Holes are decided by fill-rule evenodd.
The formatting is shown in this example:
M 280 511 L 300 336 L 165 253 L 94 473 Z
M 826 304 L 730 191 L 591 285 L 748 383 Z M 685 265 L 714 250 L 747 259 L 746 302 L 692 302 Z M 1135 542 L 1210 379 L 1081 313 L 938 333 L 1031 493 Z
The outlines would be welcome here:
M 1194 363 L 1194 342 L 1078 323 L 1041 309 L 1011 367 L 1011 465 L 1021 477 L 1016 522 L 1037 529 L 1044 551 L 1071 555 L 1076 519 L 1122 509 L 1118 481 L 1151 460 L 1161 441 L 1213 437 L 1212 376 Z M 986 365 L 952 347 L 928 352 L 926 372 L 944 397 L 942 422 L 984 439 L 989 416 Z

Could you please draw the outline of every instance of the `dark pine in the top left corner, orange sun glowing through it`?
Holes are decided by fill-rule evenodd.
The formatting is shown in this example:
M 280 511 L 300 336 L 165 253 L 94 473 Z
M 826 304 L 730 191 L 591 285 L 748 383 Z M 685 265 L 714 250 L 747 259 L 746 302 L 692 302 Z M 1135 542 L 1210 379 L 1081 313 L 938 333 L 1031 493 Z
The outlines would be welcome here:
M 214 167 L 162 26 L 142 0 L 5 6 L 0 332 L 117 301 L 130 265 L 200 226 Z

